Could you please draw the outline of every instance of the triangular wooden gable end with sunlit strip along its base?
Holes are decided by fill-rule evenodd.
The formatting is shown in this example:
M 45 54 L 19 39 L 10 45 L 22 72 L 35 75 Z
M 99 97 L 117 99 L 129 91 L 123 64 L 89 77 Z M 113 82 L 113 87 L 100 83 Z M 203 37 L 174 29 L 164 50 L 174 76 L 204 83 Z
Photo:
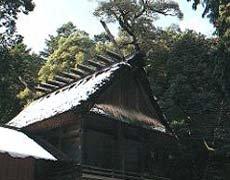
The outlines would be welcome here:
M 106 89 L 95 106 L 119 120 L 163 127 L 147 92 L 132 72 Z

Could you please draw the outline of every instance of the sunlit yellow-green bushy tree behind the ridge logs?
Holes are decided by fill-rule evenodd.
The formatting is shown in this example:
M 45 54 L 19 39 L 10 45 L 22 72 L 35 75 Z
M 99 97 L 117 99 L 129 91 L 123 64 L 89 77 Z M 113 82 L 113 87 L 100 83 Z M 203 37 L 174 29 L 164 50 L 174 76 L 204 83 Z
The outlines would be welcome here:
M 93 53 L 94 42 L 89 35 L 67 23 L 57 30 L 58 35 L 49 41 L 47 61 L 39 71 L 39 80 L 47 81 L 62 71 L 69 71 Z M 49 54 L 50 53 L 50 54 Z

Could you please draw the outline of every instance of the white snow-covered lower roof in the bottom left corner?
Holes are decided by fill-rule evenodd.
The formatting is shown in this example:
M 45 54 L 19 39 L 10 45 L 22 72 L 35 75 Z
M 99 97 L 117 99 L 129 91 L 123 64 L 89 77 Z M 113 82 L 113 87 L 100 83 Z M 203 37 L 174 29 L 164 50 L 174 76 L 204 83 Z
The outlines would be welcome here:
M 57 159 L 24 133 L 0 127 L 0 153 L 8 153 L 15 158 Z

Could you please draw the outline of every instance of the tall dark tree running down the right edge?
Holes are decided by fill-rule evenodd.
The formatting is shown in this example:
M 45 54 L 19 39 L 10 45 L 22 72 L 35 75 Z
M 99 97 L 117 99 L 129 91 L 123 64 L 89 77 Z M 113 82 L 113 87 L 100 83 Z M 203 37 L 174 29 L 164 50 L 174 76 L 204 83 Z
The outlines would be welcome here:
M 215 51 L 213 53 L 213 59 L 215 61 L 215 71 L 213 72 L 215 80 L 218 85 L 218 91 L 220 94 L 219 106 L 219 128 L 216 128 L 219 139 L 222 139 L 221 145 L 229 142 L 229 94 L 230 94 L 230 2 L 227 0 L 202 0 L 195 1 L 193 7 L 196 8 L 198 4 L 202 4 L 205 7 L 203 16 L 207 16 L 210 22 L 213 23 L 216 28 L 216 44 Z

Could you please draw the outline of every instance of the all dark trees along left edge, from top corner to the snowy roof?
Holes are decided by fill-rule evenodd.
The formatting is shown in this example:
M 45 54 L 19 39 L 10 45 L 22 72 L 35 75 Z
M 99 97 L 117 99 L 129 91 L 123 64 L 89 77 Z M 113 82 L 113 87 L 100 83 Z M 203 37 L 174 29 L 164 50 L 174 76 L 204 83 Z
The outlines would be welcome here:
M 25 105 L 25 98 L 36 83 L 42 60 L 22 44 L 16 33 L 18 14 L 28 14 L 32 0 L 0 1 L 0 122 L 9 121 Z M 23 94 L 23 92 L 27 92 Z M 31 98 L 31 97 L 30 97 Z

